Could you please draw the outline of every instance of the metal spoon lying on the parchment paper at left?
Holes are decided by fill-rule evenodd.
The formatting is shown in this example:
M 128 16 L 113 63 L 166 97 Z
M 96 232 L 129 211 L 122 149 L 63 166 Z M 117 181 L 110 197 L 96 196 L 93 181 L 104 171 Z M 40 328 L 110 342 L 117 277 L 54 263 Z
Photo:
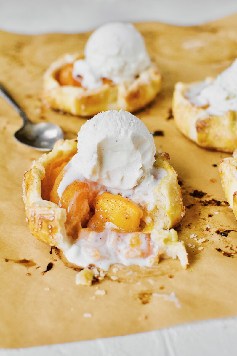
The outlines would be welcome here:
M 60 138 L 64 138 L 63 131 L 58 125 L 49 122 L 34 124 L 30 121 L 2 84 L 0 84 L 0 95 L 18 112 L 23 120 L 23 126 L 14 134 L 17 141 L 39 151 L 51 151 L 54 143 Z

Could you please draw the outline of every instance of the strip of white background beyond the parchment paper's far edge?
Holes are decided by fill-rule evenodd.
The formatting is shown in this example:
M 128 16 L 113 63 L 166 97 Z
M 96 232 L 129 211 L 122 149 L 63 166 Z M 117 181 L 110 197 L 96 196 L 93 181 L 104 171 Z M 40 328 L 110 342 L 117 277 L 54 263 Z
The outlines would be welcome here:
M 0 0 L 0 28 L 72 33 L 116 20 L 196 25 L 236 11 L 237 0 Z

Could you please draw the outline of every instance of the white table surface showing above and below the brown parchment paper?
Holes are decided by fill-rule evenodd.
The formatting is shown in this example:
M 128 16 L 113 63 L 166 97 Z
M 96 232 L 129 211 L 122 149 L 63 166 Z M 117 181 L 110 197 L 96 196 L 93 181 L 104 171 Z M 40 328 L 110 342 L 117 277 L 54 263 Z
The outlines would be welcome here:
M 161 21 L 185 26 L 234 12 L 237 0 L 0 0 L 0 29 L 27 34 L 75 33 L 109 21 Z M 234 356 L 237 317 L 106 339 L 2 349 L 0 356 L 3 355 Z

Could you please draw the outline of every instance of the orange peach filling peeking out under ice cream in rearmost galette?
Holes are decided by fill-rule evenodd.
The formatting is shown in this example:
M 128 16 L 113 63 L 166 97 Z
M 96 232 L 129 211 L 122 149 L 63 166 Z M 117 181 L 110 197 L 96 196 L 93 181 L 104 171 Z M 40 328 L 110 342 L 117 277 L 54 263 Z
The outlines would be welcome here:
M 80 75 L 75 79 L 72 75 L 73 63 L 65 64 L 58 73 L 56 73 L 56 79 L 60 85 L 71 85 L 73 87 L 82 87 L 82 77 Z M 113 80 L 109 78 L 101 78 L 103 84 L 114 85 Z

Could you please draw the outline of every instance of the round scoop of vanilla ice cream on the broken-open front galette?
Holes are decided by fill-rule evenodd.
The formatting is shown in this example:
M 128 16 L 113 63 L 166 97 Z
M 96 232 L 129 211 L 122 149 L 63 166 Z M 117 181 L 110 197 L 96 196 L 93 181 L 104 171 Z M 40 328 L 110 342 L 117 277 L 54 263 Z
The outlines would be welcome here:
M 110 188 L 132 189 L 155 162 L 153 136 L 128 111 L 102 111 L 78 133 L 77 166 L 90 180 Z

